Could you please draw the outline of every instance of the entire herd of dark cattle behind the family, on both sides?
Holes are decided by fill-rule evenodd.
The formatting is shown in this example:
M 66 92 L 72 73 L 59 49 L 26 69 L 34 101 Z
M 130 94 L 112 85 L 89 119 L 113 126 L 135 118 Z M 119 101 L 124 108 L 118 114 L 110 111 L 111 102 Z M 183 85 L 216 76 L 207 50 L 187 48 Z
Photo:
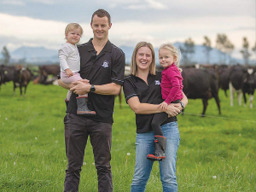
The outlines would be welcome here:
M 33 84 L 53 84 L 57 79 L 58 73 L 60 73 L 60 67 L 56 65 L 40 66 L 37 76 L 34 76 L 31 70 L 25 67 L 0 66 L 0 89 L 1 84 L 13 81 L 14 95 L 15 88 L 19 86 L 20 96 L 22 96 L 22 87 L 24 87 L 24 96 L 26 96 L 26 86 L 31 80 L 33 80 Z M 49 75 L 52 76 L 51 79 L 49 79 Z M 239 105 L 241 105 L 242 96 L 246 105 L 246 94 L 248 94 L 250 96 L 250 108 L 253 108 L 253 94 L 256 89 L 256 67 L 244 67 L 239 65 L 233 67 L 225 65 L 195 65 L 193 67 L 183 67 L 182 76 L 183 92 L 185 95 L 189 99 L 202 99 L 202 116 L 205 115 L 208 100 L 212 97 L 217 103 L 218 113 L 221 114 L 220 100 L 218 97 L 219 89 L 224 90 L 226 96 L 226 91 L 230 90 L 231 106 L 233 106 L 235 92 L 237 92 Z M 119 101 L 120 98 L 121 96 L 119 95 Z

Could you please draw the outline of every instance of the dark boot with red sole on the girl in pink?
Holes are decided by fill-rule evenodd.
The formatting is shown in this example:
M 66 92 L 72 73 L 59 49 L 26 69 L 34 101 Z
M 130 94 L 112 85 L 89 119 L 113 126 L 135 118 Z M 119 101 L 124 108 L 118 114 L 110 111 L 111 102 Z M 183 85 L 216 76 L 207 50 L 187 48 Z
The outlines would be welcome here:
M 154 136 L 154 154 L 148 154 L 148 160 L 166 160 L 166 137 Z

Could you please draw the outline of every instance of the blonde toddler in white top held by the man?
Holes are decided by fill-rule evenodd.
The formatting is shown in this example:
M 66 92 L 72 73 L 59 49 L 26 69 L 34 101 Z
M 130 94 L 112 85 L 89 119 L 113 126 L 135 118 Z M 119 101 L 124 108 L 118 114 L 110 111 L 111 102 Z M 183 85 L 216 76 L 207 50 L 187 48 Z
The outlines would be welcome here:
M 83 34 L 83 28 L 77 23 L 69 23 L 65 29 L 66 44 L 61 44 L 59 49 L 59 60 L 61 66 L 61 79 L 64 83 L 70 84 L 73 81 L 81 80 L 80 71 L 80 56 L 77 45 Z M 71 90 L 67 92 L 69 101 L 72 94 Z M 95 111 L 90 111 L 87 107 L 88 94 L 77 97 L 78 110 L 80 115 L 96 115 Z

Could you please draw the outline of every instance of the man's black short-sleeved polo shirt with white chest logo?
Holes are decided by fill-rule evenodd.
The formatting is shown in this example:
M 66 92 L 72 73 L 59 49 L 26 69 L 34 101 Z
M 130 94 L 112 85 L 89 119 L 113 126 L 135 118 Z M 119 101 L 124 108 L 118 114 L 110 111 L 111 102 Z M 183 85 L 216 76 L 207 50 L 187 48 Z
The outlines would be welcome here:
M 80 75 L 82 79 L 89 79 L 90 84 L 120 84 L 124 83 L 125 54 L 111 44 L 110 41 L 104 46 L 101 53 L 96 55 L 96 50 L 89 42 L 78 46 L 80 55 Z M 67 112 L 77 113 L 76 94 L 72 94 Z M 88 108 L 96 111 L 96 116 L 86 117 L 96 121 L 113 123 L 114 96 L 88 94 Z

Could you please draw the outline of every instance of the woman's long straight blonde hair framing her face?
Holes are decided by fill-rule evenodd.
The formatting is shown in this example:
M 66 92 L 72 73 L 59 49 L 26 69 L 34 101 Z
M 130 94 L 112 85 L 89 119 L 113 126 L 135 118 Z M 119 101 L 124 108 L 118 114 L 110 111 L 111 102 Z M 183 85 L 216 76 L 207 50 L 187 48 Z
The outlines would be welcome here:
M 131 56 L 131 74 L 136 75 L 137 73 L 137 63 L 136 63 L 136 55 L 137 50 L 141 47 L 148 47 L 151 50 L 152 53 L 152 62 L 149 66 L 149 73 L 155 75 L 155 56 L 154 56 L 154 47 L 152 44 L 148 42 L 139 42 L 136 47 L 133 50 L 132 56 Z

